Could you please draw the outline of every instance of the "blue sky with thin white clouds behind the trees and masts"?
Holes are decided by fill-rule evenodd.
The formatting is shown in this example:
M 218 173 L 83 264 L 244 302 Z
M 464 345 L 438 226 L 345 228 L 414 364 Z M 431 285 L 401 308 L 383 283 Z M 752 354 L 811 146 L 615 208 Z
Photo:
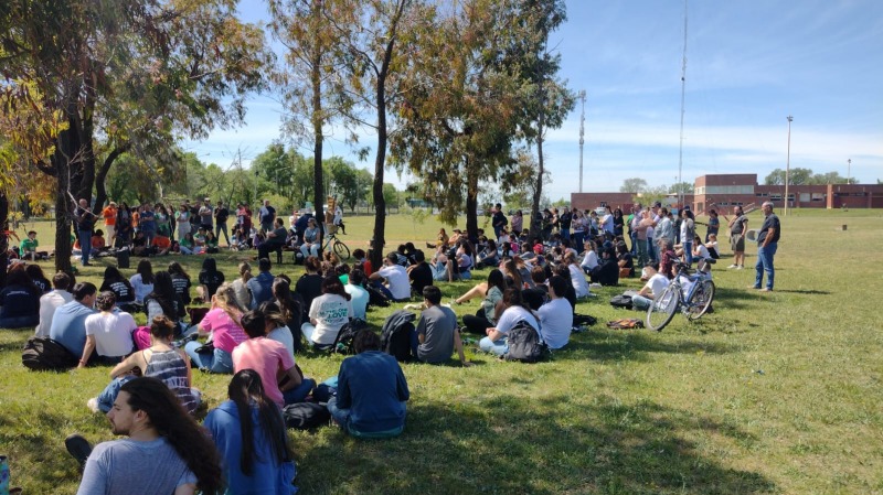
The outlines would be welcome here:
M 243 19 L 266 19 L 258 0 Z M 678 176 L 683 54 L 682 1 L 567 1 L 568 21 L 550 46 L 568 86 L 586 92 L 583 191 L 617 191 L 627 177 L 650 185 Z M 883 2 L 879 0 L 693 0 L 688 7 L 683 180 L 757 173 L 786 164 L 837 171 L 861 183 L 883 179 Z M 579 104 L 546 136 L 552 200 L 578 190 Z M 279 105 L 248 103 L 246 125 L 188 142 L 203 161 L 226 166 L 280 138 Z M 362 143 L 372 136 L 363 132 Z M 304 154 L 310 151 L 305 149 Z M 342 139 L 326 153 L 359 162 Z M 387 181 L 404 184 L 387 171 Z

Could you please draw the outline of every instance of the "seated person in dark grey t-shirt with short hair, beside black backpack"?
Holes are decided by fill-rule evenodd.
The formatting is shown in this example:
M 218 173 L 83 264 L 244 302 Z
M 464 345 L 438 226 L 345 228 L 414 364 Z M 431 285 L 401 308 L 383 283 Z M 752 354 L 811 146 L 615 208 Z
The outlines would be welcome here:
M 429 364 L 446 363 L 456 349 L 464 366 L 471 366 L 462 353 L 457 315 L 442 304 L 442 290 L 435 286 L 423 288 L 421 319 L 411 336 L 411 352 L 418 361 Z

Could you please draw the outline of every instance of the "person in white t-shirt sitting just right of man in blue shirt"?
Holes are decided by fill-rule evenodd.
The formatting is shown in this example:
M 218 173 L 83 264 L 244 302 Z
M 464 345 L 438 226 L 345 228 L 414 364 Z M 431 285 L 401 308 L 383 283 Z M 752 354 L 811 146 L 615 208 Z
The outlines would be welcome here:
M 83 347 L 83 357 L 77 368 L 86 367 L 93 351 L 107 363 L 119 363 L 135 348 L 131 333 L 138 325 L 131 314 L 114 311 L 116 303 L 117 298 L 113 291 L 104 291 L 95 300 L 100 313 L 86 316 L 86 346 Z

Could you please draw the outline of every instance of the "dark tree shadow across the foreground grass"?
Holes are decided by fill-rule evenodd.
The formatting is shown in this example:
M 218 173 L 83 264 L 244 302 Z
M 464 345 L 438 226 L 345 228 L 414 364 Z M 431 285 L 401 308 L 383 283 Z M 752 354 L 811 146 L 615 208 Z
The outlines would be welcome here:
M 417 403 L 402 437 L 339 431 L 299 452 L 309 493 L 756 494 L 764 475 L 704 456 L 698 438 L 753 442 L 737 427 L 650 401 L 494 396 Z M 726 440 L 724 440 L 726 441 Z M 312 466 L 321 466 L 313 470 Z

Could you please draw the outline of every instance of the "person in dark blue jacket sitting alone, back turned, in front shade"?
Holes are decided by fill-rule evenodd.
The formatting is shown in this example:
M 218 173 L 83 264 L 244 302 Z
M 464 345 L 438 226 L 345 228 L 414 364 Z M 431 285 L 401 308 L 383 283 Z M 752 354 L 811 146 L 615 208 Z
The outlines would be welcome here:
M 402 367 L 380 351 L 374 332 L 359 332 L 353 347 L 357 354 L 341 363 L 336 394 L 328 400 L 331 418 L 357 438 L 400 435 L 411 398 Z

